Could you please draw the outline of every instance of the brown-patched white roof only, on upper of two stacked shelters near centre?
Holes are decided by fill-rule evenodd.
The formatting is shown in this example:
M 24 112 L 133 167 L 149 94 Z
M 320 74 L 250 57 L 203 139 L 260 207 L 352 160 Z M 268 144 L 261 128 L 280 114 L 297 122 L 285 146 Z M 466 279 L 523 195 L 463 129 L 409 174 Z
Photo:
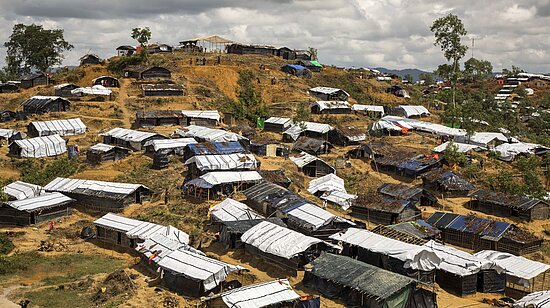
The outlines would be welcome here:
M 201 171 L 256 169 L 260 165 L 253 154 L 197 155 L 189 158 L 186 165 L 196 164 Z

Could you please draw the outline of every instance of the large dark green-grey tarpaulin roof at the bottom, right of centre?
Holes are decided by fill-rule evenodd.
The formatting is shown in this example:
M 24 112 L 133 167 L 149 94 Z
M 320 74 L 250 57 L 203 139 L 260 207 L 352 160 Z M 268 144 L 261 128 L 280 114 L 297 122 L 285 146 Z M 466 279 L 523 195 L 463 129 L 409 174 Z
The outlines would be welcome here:
M 357 290 L 377 300 L 389 299 L 416 280 L 350 257 L 322 253 L 306 267 L 313 275 Z

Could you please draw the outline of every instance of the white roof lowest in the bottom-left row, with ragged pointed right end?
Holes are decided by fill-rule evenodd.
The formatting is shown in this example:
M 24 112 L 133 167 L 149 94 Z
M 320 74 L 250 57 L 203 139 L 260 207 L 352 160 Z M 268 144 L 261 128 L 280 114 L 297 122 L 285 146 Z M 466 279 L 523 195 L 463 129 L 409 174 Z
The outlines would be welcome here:
M 163 270 L 202 281 L 205 291 L 218 286 L 231 272 L 243 270 L 238 265 L 227 264 L 190 251 L 176 250 L 158 262 Z

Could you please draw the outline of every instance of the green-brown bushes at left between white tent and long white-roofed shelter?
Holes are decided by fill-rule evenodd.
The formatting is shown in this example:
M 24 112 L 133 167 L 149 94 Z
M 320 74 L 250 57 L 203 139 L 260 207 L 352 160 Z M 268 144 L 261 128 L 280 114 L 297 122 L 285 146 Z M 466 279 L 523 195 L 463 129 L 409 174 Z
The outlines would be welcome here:
M 80 170 L 82 165 L 76 159 L 59 158 L 54 161 L 45 159 L 14 160 L 24 182 L 44 186 L 56 177 L 70 177 Z

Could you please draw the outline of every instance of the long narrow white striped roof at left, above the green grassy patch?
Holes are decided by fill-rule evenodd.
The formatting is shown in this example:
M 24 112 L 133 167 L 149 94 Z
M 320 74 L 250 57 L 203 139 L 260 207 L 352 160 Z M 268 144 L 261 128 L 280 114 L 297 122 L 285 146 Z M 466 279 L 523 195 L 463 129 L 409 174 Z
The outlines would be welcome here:
M 77 189 L 95 190 L 113 194 L 129 195 L 139 188 L 147 188 L 141 184 L 104 182 L 94 180 L 80 180 L 56 178 L 44 187 L 46 191 L 73 192 Z

